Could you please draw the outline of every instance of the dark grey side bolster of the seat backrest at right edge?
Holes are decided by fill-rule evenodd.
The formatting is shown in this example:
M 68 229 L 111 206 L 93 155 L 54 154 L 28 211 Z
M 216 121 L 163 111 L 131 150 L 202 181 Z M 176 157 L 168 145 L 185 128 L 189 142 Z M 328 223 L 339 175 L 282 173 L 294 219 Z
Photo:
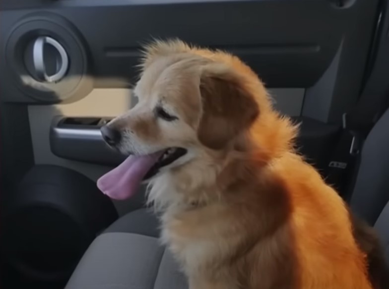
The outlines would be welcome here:
M 373 226 L 388 201 L 389 110 L 376 123 L 364 143 L 350 207 L 357 216 Z

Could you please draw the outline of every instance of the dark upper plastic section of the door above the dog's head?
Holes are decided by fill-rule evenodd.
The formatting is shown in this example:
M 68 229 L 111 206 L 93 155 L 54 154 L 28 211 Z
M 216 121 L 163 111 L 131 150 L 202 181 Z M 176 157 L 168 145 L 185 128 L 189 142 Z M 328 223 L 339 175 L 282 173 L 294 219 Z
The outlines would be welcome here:
M 1 11 L 0 42 L 3 50 L 22 17 L 53 12 L 77 27 L 84 38 L 95 87 L 131 82 L 141 43 L 152 37 L 178 37 L 237 54 L 268 87 L 305 88 L 320 79 L 351 29 L 374 27 L 374 8 L 366 10 L 366 21 L 359 18 L 368 3 L 374 7 L 377 0 L 355 0 L 342 8 L 329 0 L 44 1 L 36 3 L 39 9 Z M 370 35 L 360 35 L 360 41 L 367 39 Z M 4 89 L 11 91 L 10 85 Z M 27 101 L 13 94 L 12 100 L 6 100 Z

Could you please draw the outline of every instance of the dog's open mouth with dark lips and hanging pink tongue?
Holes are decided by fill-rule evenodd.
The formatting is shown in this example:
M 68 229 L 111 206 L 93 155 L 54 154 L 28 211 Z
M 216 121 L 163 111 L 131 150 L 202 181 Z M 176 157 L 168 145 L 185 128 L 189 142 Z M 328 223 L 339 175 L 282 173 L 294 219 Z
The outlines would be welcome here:
M 169 148 L 150 155 L 131 155 L 116 169 L 103 175 L 97 186 L 113 199 L 127 199 L 136 193 L 143 180 L 150 179 L 186 153 L 183 148 Z

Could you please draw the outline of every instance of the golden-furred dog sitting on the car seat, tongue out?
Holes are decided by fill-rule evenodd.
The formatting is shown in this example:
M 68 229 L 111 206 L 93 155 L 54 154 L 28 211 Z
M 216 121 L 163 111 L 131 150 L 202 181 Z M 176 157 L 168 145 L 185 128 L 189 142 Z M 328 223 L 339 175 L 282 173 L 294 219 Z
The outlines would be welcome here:
M 125 199 L 148 182 L 190 289 L 379 288 L 374 234 L 295 151 L 298 127 L 248 65 L 169 40 L 140 69 L 138 103 L 102 128 L 129 157 L 98 186 Z

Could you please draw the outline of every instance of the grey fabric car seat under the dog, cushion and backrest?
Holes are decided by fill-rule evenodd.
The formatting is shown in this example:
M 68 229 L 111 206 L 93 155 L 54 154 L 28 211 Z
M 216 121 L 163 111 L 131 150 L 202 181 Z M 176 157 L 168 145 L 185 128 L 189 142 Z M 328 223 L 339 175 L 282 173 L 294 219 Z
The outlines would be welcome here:
M 389 110 L 364 145 L 351 199 L 353 211 L 379 232 L 389 264 L 387 148 Z M 157 218 L 147 209 L 122 217 L 93 241 L 65 289 L 187 289 L 185 277 L 157 237 Z

